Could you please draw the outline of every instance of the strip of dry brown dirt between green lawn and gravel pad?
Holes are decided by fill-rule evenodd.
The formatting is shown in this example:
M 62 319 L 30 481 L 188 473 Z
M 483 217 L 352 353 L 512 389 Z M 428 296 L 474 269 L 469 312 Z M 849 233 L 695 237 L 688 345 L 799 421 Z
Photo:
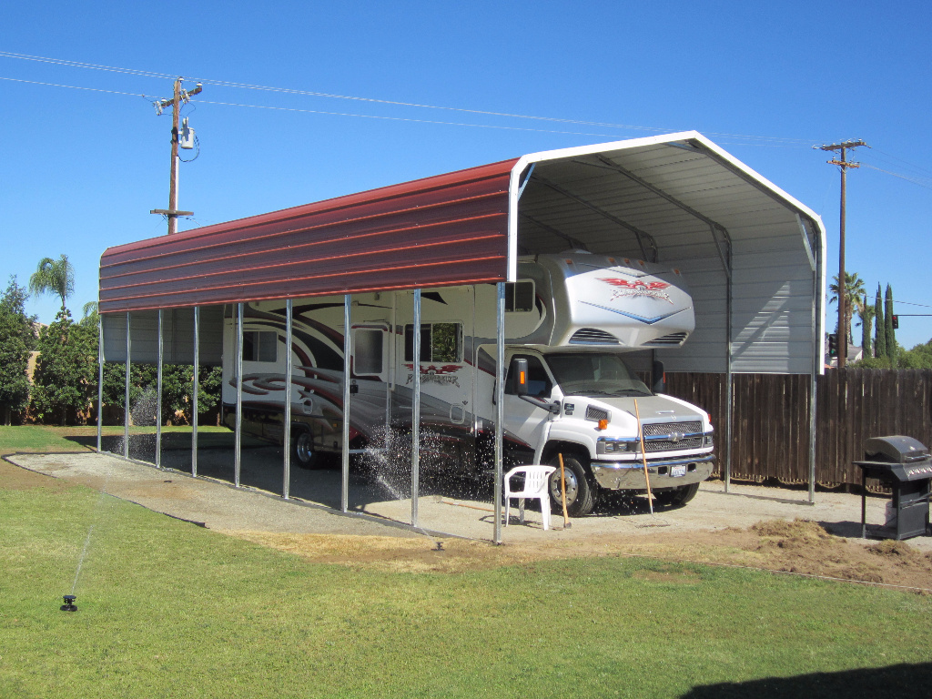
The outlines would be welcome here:
M 646 555 L 670 561 L 747 566 L 932 590 L 932 555 L 921 554 L 905 541 L 867 544 L 843 539 L 829 534 L 816 522 L 802 519 L 770 520 L 749 528 L 716 531 L 657 532 L 625 540 L 604 535 L 584 542 L 492 546 L 481 541 L 446 539 L 439 542 L 439 549 L 437 541 L 426 538 L 399 540 L 256 531 L 226 533 L 314 562 L 354 568 L 452 573 L 524 565 L 544 559 Z M 676 577 L 678 582 L 690 582 L 680 574 Z

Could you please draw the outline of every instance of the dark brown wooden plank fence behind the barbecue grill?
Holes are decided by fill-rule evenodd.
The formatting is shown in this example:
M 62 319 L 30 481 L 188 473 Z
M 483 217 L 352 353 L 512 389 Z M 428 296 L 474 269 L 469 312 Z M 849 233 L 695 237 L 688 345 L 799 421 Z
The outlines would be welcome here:
M 667 392 L 702 406 L 724 459 L 726 375 L 667 374 Z M 809 377 L 733 376 L 732 477 L 809 480 Z M 869 437 L 905 434 L 932 446 L 932 370 L 829 369 L 816 377 L 816 482 L 860 484 L 852 462 Z

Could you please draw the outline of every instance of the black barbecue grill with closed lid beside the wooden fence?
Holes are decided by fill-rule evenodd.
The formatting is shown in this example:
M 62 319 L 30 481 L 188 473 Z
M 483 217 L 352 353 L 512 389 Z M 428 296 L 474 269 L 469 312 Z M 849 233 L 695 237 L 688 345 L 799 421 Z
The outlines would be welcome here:
M 881 539 L 922 536 L 929 525 L 929 481 L 932 456 L 912 437 L 872 437 L 864 443 L 864 460 L 855 461 L 861 470 L 861 537 L 867 537 L 867 479 L 877 478 L 893 491 L 892 512 L 884 527 L 871 528 Z

